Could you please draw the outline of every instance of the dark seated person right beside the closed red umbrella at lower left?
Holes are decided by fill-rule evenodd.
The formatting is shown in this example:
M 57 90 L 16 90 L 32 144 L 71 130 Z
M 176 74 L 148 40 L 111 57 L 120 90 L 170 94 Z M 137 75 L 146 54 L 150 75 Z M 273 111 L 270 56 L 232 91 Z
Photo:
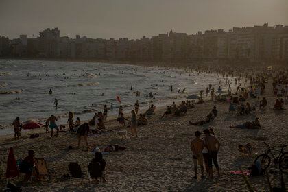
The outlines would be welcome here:
M 28 151 L 28 156 L 26 156 L 21 165 L 21 172 L 25 173 L 24 181 L 27 182 L 31 179 L 33 169 L 36 165 L 35 163 L 35 154 L 33 150 Z

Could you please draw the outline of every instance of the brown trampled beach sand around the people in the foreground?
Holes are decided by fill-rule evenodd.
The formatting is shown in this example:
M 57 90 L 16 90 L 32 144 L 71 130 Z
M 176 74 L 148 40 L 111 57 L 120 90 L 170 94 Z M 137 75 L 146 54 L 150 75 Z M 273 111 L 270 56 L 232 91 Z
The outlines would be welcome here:
M 138 128 L 139 138 L 117 139 L 115 131 L 119 124 L 110 119 L 106 127 L 110 132 L 88 136 L 88 143 L 92 147 L 105 145 L 121 145 L 127 149 L 105 154 L 107 182 L 104 184 L 89 184 L 87 165 L 93 158 L 91 152 L 77 149 L 77 136 L 62 132 L 57 138 L 50 138 L 49 134 L 40 133 L 40 137 L 29 139 L 23 136 L 14 141 L 11 135 L 0 138 L 0 188 L 5 186 L 5 169 L 8 149 L 14 147 L 16 159 L 25 158 L 27 150 L 33 149 L 36 158 L 45 158 L 49 169 L 50 180 L 47 182 L 32 182 L 23 184 L 25 191 L 248 191 L 241 176 L 232 175 L 230 171 L 247 170 L 254 158 L 267 147 L 263 141 L 274 147 L 288 141 L 287 110 L 275 112 L 273 105 L 275 96 L 272 84 L 266 85 L 263 97 L 267 98 L 265 110 L 257 110 L 252 115 L 230 115 L 228 104 L 206 101 L 196 104 L 182 117 L 167 117 L 160 119 L 164 109 L 156 108 L 155 115 L 149 117 L 149 124 Z M 262 97 L 262 96 L 261 96 Z M 209 97 L 208 97 L 209 99 Z M 248 99 L 253 102 L 256 99 Z M 189 121 L 199 121 L 216 106 L 219 113 L 215 120 L 204 126 L 189 125 Z M 285 106 L 287 108 L 287 104 Z M 241 124 L 253 121 L 259 117 L 262 128 L 259 130 L 233 129 L 230 124 Z M 196 130 L 213 128 L 215 136 L 221 143 L 219 150 L 219 166 L 221 177 L 213 180 L 205 177 L 193 179 L 193 161 L 190 150 L 191 140 Z M 37 132 L 35 130 L 34 132 Z M 252 157 L 241 154 L 237 148 L 239 144 L 252 144 Z M 69 150 L 68 146 L 73 149 Z M 84 145 L 84 143 L 82 143 Z M 69 162 L 77 162 L 82 167 L 82 178 L 61 180 L 64 173 L 69 173 Z M 270 165 L 268 170 L 272 186 L 280 186 L 278 169 Z M 199 173 L 198 173 L 199 174 Z M 249 178 L 255 191 L 269 191 L 266 176 Z M 15 181 L 18 183 L 18 180 Z M 285 176 L 285 184 L 288 178 Z

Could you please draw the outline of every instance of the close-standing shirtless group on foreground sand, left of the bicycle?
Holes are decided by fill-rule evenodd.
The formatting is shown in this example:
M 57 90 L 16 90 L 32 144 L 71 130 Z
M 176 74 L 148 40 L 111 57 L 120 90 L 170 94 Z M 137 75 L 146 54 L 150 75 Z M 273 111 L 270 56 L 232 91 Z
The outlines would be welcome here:
M 204 139 L 200 138 L 201 132 L 195 132 L 195 139 L 191 142 L 191 151 L 193 152 L 194 163 L 194 178 L 197 179 L 197 165 L 200 165 L 201 178 L 204 178 L 203 161 L 206 167 L 206 172 L 213 178 L 212 161 L 217 169 L 218 176 L 220 176 L 219 165 L 217 163 L 217 155 L 220 149 L 220 143 L 216 136 L 206 129 L 203 131 L 205 134 Z

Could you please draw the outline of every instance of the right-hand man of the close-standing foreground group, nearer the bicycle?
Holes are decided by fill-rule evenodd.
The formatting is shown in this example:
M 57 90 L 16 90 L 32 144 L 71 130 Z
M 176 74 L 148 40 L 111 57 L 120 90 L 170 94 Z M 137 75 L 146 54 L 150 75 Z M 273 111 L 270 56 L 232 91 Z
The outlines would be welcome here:
M 219 171 L 219 165 L 217 162 L 217 156 L 220 149 L 220 143 L 216 136 L 211 135 L 210 131 L 208 129 L 205 129 L 204 131 L 205 139 L 204 139 L 204 145 L 208 149 L 208 167 L 209 167 L 209 176 L 210 178 L 213 178 L 213 168 L 212 168 L 212 161 L 217 169 L 218 176 L 220 176 Z

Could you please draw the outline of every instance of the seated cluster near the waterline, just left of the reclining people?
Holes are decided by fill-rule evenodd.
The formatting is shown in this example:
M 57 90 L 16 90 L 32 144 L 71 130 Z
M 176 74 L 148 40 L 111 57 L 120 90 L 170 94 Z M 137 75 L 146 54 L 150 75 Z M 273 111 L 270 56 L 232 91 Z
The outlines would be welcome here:
M 163 113 L 161 119 L 163 119 L 163 117 L 167 117 L 167 115 L 175 115 L 175 116 L 186 115 L 187 110 L 189 108 L 194 108 L 193 101 L 189 100 L 182 101 L 179 106 L 177 106 L 175 102 L 173 102 L 171 106 L 167 106 L 167 110 Z

